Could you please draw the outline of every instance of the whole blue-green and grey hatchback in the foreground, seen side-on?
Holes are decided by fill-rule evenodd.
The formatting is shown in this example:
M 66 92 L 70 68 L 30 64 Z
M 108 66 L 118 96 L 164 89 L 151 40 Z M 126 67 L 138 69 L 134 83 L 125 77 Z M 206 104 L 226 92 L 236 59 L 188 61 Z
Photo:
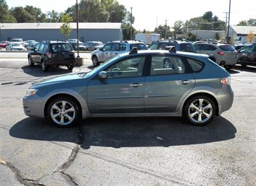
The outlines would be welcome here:
M 233 99 L 230 74 L 207 55 L 133 48 L 89 73 L 36 83 L 23 108 L 26 115 L 60 127 L 80 118 L 134 116 L 182 116 L 205 125 L 228 110 Z

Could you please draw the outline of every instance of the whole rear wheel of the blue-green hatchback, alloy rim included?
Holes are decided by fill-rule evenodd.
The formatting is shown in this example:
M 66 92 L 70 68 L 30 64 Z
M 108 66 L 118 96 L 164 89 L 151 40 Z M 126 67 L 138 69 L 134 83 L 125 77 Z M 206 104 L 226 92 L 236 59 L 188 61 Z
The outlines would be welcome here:
M 185 105 L 184 114 L 194 125 L 206 125 L 212 121 L 216 113 L 216 105 L 208 96 L 191 97 Z

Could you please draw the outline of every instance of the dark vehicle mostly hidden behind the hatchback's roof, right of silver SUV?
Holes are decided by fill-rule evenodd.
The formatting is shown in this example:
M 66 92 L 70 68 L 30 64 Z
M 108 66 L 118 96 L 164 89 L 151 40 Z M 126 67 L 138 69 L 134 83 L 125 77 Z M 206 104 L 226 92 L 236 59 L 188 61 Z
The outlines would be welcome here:
M 194 52 L 195 47 L 192 43 L 187 41 L 172 41 L 172 40 L 160 40 L 154 41 L 149 47 L 149 50 L 169 50 L 170 46 L 175 46 L 177 51 L 182 52 Z

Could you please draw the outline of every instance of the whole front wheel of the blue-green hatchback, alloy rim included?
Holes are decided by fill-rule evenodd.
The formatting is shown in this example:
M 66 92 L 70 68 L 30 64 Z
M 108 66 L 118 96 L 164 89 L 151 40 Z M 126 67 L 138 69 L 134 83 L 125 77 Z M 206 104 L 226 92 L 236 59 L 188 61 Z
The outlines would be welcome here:
M 58 127 L 69 127 L 80 118 L 79 106 L 69 97 L 53 99 L 47 107 L 47 119 Z

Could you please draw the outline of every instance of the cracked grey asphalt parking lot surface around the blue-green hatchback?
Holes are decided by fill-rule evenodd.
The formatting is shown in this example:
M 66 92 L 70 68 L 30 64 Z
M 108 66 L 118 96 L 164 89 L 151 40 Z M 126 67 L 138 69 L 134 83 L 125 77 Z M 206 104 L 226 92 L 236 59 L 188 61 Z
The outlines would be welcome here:
M 86 60 L 74 72 L 90 69 Z M 26 117 L 26 90 L 67 73 L 0 61 L 1 185 L 255 185 L 256 68 L 230 71 L 234 104 L 204 127 L 143 117 L 90 118 L 60 129 Z

